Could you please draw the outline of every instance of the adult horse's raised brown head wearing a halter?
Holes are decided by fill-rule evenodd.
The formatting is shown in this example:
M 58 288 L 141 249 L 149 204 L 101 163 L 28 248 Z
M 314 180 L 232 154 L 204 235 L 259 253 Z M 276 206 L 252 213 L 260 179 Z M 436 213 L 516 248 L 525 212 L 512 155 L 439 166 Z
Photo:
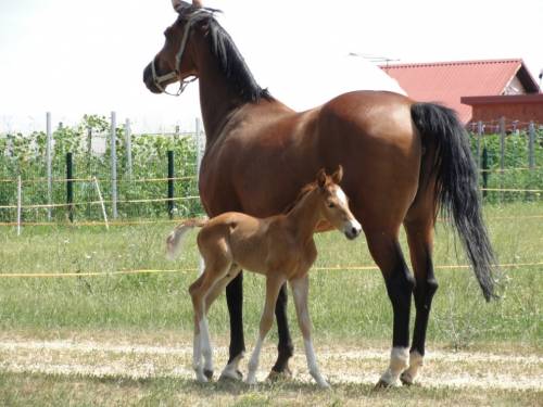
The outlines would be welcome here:
M 193 0 L 192 4 L 172 0 L 172 5 L 179 15 L 164 31 L 164 47 L 143 69 L 143 81 L 153 93 L 166 92 L 168 85 L 180 81 L 177 93 L 179 94 L 187 84 L 194 80 L 197 67 L 193 62 L 190 35 L 195 26 L 213 14 L 213 10 L 203 8 L 200 0 Z M 193 79 L 187 79 L 190 77 Z

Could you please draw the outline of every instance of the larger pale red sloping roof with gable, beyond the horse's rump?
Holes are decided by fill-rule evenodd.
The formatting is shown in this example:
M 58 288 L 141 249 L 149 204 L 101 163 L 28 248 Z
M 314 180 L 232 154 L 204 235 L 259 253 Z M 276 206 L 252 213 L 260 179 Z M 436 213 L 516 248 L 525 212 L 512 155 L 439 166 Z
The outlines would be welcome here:
M 458 112 L 463 123 L 471 118 L 471 106 L 462 104 L 462 97 L 503 94 L 517 74 L 528 92 L 539 91 L 520 59 L 397 64 L 381 69 L 396 79 L 409 98 L 443 103 Z

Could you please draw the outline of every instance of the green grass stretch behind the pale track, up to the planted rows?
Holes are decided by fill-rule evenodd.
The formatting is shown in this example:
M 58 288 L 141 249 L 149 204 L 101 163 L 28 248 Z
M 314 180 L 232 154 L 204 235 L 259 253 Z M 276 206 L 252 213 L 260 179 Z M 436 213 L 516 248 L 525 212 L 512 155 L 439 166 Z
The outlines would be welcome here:
M 485 216 L 501 263 L 543 260 L 543 218 L 496 217 L 543 215 L 543 203 L 487 206 Z M 176 263 L 164 258 L 171 225 L 25 228 L 0 233 L 0 272 L 103 272 L 103 277 L 0 278 L 0 329 L 51 330 L 181 330 L 192 329 L 187 288 L 194 271 L 111 276 L 121 269 L 193 268 L 198 265 L 193 236 Z M 346 241 L 340 233 L 317 236 L 316 266 L 372 265 L 364 238 Z M 405 239 L 402 237 L 405 253 Z M 458 252 L 458 259 L 456 253 Z M 435 265 L 465 264 L 459 243 L 438 227 Z M 438 269 L 440 289 L 430 318 L 428 340 L 452 347 L 488 342 L 541 346 L 543 266 L 506 268 L 503 298 L 484 303 L 469 269 Z M 260 276 L 244 276 L 244 325 L 248 338 L 257 329 L 263 306 Z M 321 339 L 391 339 L 392 310 L 378 270 L 313 271 L 311 313 Z M 226 302 L 211 310 L 214 334 L 228 333 Z M 289 307 L 294 322 L 293 306 Z M 294 334 L 298 336 L 295 323 Z

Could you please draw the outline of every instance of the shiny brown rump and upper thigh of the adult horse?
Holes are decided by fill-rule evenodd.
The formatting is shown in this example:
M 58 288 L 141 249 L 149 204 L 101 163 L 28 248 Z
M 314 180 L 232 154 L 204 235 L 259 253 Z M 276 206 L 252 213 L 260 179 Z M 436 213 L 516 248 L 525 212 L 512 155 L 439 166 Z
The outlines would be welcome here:
M 342 164 L 342 186 L 366 230 L 397 227 L 415 199 L 422 145 L 402 94 L 355 91 L 320 107 L 319 155 Z M 386 216 L 382 216 L 386 214 Z

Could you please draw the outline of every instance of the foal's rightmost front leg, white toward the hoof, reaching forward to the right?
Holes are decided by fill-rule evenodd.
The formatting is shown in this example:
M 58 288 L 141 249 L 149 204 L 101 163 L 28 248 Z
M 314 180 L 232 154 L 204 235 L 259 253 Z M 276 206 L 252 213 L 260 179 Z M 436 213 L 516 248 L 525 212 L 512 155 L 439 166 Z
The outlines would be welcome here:
M 298 323 L 304 338 L 305 358 L 307 360 L 307 369 L 310 374 L 315 379 L 320 387 L 329 389 L 330 385 L 323 379 L 318 369 L 315 351 L 313 349 L 313 341 L 311 339 L 311 319 L 307 307 L 307 296 L 310 293 L 310 276 L 290 282 L 292 294 L 294 296 L 294 305 L 296 307 Z

